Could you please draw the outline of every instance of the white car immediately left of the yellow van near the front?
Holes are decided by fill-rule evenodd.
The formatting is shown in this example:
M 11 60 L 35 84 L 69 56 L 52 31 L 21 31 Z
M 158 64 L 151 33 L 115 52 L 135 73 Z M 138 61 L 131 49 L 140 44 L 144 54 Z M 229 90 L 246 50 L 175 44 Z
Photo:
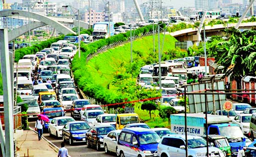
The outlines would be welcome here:
M 98 115 L 93 121 L 94 126 L 100 125 L 115 125 L 116 124 L 116 114 L 101 114 Z

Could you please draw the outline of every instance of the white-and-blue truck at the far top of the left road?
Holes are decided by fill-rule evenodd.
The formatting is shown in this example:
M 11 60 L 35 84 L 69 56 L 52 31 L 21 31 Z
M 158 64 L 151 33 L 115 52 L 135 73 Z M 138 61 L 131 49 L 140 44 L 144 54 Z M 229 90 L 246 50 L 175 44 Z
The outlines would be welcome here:
M 114 22 L 96 22 L 93 24 L 93 40 L 106 39 L 114 35 Z

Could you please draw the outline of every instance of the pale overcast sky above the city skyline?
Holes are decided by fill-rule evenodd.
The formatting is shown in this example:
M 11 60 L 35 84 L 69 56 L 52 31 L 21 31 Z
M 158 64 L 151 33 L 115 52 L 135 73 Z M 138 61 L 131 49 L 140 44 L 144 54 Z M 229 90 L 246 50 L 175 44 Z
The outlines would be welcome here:
M 22 0 L 5 0 L 7 3 L 13 3 L 13 2 L 18 2 L 21 3 Z M 65 1 L 65 0 L 49 0 L 52 2 L 56 1 Z M 149 0 L 138 0 L 139 3 L 146 2 Z M 174 8 L 180 8 L 183 6 L 195 6 L 195 0 L 162 0 L 164 5 L 167 6 L 174 6 Z M 242 3 L 242 0 L 233 0 L 233 2 L 240 2 Z

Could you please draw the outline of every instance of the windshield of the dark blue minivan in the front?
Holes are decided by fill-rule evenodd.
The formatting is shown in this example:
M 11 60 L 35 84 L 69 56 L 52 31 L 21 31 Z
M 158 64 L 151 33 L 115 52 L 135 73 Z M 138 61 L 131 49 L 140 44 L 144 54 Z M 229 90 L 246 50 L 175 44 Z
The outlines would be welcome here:
M 139 134 L 138 139 L 141 145 L 158 144 L 161 140 L 157 133 Z

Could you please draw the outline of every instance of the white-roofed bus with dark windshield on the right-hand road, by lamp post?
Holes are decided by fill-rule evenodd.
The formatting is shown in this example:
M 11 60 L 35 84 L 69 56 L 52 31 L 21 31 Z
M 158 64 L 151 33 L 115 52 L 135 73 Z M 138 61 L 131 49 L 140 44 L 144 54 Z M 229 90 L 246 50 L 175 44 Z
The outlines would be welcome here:
M 182 63 L 169 63 L 169 62 L 161 62 L 161 79 L 165 79 L 169 73 L 172 73 L 172 69 L 183 69 Z M 153 69 L 153 80 L 158 81 L 159 79 L 159 64 L 156 64 Z

